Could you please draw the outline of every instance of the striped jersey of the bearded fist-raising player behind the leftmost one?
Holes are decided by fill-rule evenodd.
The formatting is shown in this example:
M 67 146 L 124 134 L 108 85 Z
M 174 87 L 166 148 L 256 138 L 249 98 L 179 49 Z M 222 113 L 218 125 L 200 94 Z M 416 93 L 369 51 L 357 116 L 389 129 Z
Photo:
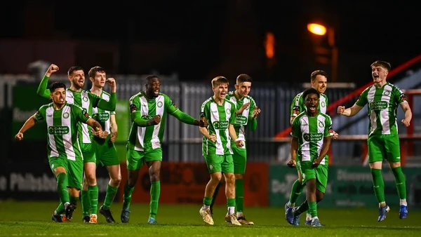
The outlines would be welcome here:
M 88 114 L 93 114 L 93 107 L 98 106 L 98 102 L 100 102 L 100 97 L 94 95 L 93 93 L 89 93 L 86 90 L 81 91 L 74 91 L 70 88 L 67 88 L 66 91 L 66 101 L 69 104 L 76 104 L 82 109 L 86 109 Z M 93 139 L 93 134 L 91 129 L 88 129 L 88 125 L 85 123 L 81 123 L 79 126 L 79 140 L 86 144 L 91 143 Z

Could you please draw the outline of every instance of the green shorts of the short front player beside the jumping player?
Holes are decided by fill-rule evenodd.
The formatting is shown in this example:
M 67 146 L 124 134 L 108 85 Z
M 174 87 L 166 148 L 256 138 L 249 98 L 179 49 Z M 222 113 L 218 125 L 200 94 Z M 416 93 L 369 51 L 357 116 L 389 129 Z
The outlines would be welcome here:
M 317 168 L 312 168 L 312 161 L 299 161 L 297 163 L 297 170 L 302 174 L 302 183 L 305 184 L 307 180 L 316 179 L 316 189 L 323 194 L 326 192 L 328 185 L 328 165 L 319 165 Z

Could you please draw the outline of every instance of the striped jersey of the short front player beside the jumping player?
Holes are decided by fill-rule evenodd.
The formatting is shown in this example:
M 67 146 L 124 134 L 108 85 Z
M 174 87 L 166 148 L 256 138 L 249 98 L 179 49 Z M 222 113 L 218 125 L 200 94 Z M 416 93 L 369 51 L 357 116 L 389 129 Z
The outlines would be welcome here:
M 292 130 L 293 137 L 298 137 L 298 159 L 300 161 L 313 161 L 319 158 L 323 138 L 333 135 L 332 119 L 320 112 L 312 117 L 303 111 L 294 118 Z M 327 164 L 327 158 L 326 155 L 320 164 Z

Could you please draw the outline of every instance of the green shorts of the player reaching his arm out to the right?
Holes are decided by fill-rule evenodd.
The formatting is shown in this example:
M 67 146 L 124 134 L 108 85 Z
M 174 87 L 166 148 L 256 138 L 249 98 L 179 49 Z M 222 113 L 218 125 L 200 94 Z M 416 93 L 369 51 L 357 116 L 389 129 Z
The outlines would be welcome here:
M 126 164 L 128 170 L 139 170 L 143 163 L 149 161 L 162 161 L 162 149 L 156 148 L 149 151 L 127 149 Z

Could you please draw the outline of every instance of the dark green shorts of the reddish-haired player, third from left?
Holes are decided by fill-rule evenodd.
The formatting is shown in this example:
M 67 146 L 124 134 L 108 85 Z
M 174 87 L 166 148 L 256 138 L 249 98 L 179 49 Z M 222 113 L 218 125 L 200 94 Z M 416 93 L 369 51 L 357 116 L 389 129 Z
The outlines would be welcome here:
M 106 140 L 102 141 L 93 140 L 96 149 L 95 156 L 97 166 L 112 166 L 120 164 L 116 146 L 114 146 L 114 143 L 112 143 L 109 137 L 110 136 L 108 136 Z

